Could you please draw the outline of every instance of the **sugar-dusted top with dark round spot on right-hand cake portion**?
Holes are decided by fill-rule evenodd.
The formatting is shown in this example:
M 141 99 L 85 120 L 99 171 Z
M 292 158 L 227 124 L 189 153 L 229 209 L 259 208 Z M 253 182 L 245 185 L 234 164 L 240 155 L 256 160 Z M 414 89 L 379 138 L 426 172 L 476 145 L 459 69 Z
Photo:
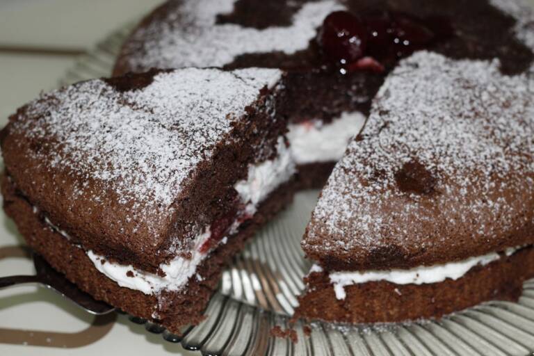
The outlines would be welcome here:
M 309 257 L 405 268 L 533 243 L 533 97 L 498 60 L 403 60 L 321 195 Z

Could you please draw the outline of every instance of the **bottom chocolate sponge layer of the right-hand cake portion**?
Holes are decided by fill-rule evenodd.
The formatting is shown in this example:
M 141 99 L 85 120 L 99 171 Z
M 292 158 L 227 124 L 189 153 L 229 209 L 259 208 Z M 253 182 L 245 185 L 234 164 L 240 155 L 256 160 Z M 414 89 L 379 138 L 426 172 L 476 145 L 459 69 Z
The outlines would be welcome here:
M 523 282 L 534 277 L 534 248 L 476 266 L 458 280 L 433 284 L 367 282 L 346 286 L 338 300 L 327 273 L 311 273 L 295 318 L 341 323 L 389 323 L 440 318 L 488 300 L 517 301 Z M 325 307 L 327 306 L 327 307 Z

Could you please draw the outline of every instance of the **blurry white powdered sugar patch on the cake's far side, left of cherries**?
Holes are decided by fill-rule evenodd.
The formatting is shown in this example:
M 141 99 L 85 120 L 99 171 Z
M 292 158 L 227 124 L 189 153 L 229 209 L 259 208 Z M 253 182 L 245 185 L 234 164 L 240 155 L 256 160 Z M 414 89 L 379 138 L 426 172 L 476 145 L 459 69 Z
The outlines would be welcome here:
M 236 24 L 216 24 L 218 14 L 231 13 L 236 0 L 188 0 L 165 19 L 133 34 L 129 67 L 223 67 L 241 54 L 306 49 L 323 19 L 344 7 L 334 0 L 306 3 L 289 27 L 258 30 Z M 141 46 L 140 49 L 137 46 Z M 139 55 L 141 53 L 142 55 Z

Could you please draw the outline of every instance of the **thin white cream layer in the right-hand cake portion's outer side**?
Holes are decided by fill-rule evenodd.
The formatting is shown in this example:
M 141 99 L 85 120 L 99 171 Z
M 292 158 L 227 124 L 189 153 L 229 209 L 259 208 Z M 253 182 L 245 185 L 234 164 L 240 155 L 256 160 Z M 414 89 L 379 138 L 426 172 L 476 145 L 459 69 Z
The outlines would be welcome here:
M 508 257 L 524 248 L 508 248 L 503 253 Z M 432 284 L 444 282 L 446 279 L 458 280 L 475 266 L 486 266 L 501 258 L 497 252 L 478 257 L 470 257 L 463 261 L 449 262 L 435 266 L 420 266 L 408 270 L 367 270 L 330 273 L 330 282 L 334 285 L 334 292 L 338 300 L 346 298 L 345 287 L 367 282 L 391 282 L 394 284 Z M 321 273 L 323 268 L 312 266 L 310 273 Z

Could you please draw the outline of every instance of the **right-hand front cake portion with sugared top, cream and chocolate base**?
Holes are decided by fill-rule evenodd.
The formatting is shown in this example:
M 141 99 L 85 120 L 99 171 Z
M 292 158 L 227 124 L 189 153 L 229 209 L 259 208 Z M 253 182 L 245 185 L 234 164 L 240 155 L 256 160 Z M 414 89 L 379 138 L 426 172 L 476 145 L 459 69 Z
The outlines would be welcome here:
M 533 95 L 531 74 L 498 60 L 403 60 L 313 212 L 296 316 L 396 322 L 517 300 L 534 277 Z

